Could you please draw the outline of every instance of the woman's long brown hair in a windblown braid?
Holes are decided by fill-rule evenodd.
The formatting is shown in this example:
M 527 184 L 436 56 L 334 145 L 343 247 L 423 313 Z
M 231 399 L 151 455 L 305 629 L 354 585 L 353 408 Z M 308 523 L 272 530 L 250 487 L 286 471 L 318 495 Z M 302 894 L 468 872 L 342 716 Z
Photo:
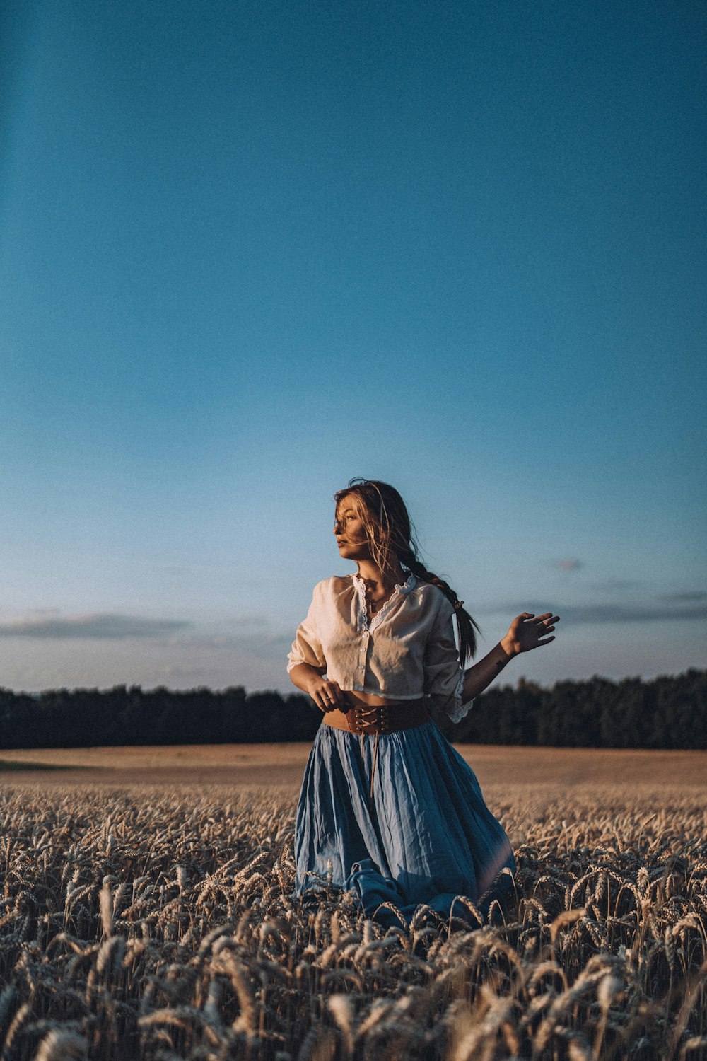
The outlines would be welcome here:
M 454 608 L 459 631 L 459 659 L 461 665 L 473 658 L 476 651 L 477 624 L 464 609 L 455 591 L 439 575 L 427 571 L 419 556 L 419 545 L 414 540 L 412 523 L 405 502 L 397 490 L 374 479 L 352 479 L 343 490 L 337 490 L 334 501 L 337 508 L 343 498 L 356 501 L 357 515 L 364 524 L 371 558 L 381 569 L 383 578 L 391 582 L 399 564 L 407 568 L 425 582 L 431 582 L 442 590 Z

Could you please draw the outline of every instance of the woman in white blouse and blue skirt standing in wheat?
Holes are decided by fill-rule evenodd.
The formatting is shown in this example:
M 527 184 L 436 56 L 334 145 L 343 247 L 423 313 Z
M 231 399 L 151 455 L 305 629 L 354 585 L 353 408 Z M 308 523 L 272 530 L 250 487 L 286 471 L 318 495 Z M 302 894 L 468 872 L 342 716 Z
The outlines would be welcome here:
M 428 709 L 459 721 L 513 656 L 554 640 L 558 616 L 517 615 L 465 671 L 476 624 L 421 563 L 399 492 L 356 479 L 335 501 L 339 554 L 357 572 L 315 587 L 288 656 L 289 677 L 325 724 L 297 810 L 297 891 L 353 890 L 384 923 L 394 923 L 391 907 L 409 920 L 421 904 L 463 917 L 458 897 L 485 894 L 488 906 L 515 863 L 473 770 Z

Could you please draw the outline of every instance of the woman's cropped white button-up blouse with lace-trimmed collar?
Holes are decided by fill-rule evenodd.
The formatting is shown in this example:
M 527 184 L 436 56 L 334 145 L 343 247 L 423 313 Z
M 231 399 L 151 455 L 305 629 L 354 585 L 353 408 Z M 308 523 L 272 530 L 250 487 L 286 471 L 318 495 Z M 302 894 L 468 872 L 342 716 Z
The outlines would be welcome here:
M 442 591 L 410 574 L 369 621 L 358 574 L 325 578 L 314 588 L 287 671 L 308 663 L 343 691 L 391 700 L 427 696 L 458 723 L 464 671 L 454 639 L 454 608 Z

